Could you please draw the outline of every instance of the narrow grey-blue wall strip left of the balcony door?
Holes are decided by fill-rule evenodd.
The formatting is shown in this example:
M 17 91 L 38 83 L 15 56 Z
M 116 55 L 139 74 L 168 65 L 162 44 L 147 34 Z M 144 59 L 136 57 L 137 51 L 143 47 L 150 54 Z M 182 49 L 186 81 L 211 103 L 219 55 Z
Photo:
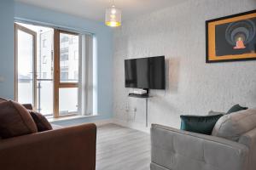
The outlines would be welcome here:
M 14 1 L 0 2 L 0 97 L 15 97 Z M 2 79 L 2 80 L 1 80 Z M 3 81 L 3 82 L 2 82 Z

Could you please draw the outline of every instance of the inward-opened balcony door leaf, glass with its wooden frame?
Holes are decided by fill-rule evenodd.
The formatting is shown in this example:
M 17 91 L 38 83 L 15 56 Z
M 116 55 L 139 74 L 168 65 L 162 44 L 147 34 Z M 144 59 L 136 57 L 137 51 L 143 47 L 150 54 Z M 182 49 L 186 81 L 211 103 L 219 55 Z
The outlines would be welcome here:
M 37 33 L 15 24 L 15 99 L 37 108 Z

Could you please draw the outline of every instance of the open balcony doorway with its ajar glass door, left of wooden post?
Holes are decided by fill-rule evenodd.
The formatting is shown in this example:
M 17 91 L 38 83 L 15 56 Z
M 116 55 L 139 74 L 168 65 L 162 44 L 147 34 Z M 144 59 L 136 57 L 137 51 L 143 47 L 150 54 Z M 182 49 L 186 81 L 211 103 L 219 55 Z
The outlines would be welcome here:
M 15 23 L 15 99 L 53 116 L 54 29 Z

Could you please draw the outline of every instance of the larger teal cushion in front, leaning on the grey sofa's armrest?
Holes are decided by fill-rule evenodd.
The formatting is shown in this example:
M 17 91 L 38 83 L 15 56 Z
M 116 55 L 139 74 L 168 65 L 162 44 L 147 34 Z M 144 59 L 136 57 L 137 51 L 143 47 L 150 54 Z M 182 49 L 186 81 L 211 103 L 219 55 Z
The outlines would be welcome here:
M 213 115 L 213 116 L 180 116 L 181 118 L 181 130 L 202 133 L 202 134 L 212 134 L 212 129 L 215 123 L 223 115 Z

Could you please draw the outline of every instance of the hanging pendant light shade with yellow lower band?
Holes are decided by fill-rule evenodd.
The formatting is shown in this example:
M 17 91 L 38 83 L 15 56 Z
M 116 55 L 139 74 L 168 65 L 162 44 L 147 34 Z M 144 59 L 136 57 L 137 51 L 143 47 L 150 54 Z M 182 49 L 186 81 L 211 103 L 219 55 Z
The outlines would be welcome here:
M 106 16 L 105 16 L 105 24 L 107 26 L 121 26 L 121 10 L 119 8 L 115 8 L 113 5 L 111 8 L 106 9 Z

